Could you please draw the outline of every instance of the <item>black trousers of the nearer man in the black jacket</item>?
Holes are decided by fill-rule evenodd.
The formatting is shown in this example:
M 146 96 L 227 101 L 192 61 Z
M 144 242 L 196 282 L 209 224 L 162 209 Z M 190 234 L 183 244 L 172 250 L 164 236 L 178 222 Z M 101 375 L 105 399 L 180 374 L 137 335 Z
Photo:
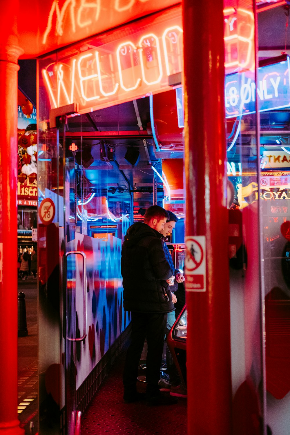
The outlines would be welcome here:
M 147 337 L 146 394 L 148 397 L 153 397 L 160 393 L 158 381 L 160 379 L 167 313 L 142 314 L 132 312 L 131 319 L 131 343 L 127 350 L 123 372 L 124 395 L 134 395 L 137 391 L 138 365 Z

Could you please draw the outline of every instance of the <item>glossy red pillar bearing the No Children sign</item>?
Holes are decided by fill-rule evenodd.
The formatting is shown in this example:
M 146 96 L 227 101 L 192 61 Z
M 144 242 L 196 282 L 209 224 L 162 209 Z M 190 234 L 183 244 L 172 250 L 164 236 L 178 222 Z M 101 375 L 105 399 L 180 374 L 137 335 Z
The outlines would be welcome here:
M 186 236 L 205 236 L 206 291 L 189 291 L 188 434 L 231 431 L 223 0 L 183 0 Z

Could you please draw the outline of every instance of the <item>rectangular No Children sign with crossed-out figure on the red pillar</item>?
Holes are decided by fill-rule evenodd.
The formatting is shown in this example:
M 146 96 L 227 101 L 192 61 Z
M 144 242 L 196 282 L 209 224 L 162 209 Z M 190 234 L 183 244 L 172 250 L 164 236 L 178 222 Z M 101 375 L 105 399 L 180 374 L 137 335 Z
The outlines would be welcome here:
M 185 238 L 185 274 L 187 291 L 206 291 L 205 236 Z

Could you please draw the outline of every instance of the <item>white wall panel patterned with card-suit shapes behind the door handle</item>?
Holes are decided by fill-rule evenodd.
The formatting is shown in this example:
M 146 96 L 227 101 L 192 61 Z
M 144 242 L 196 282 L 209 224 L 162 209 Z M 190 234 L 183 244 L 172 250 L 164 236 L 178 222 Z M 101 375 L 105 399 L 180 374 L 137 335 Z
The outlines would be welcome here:
M 110 345 L 130 322 L 123 309 L 119 238 L 108 240 L 75 234 L 67 251 L 83 251 L 87 256 L 87 337 L 76 345 L 77 388 L 87 378 Z M 77 335 L 83 333 L 82 258 L 76 258 Z

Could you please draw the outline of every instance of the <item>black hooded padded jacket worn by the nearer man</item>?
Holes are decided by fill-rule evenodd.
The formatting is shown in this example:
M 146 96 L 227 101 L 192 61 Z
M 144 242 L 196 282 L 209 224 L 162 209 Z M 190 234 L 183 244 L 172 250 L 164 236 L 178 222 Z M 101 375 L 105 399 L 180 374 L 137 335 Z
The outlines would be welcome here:
M 166 282 L 174 270 L 165 258 L 162 237 L 143 222 L 128 228 L 121 256 L 126 311 L 169 313 L 174 310 Z

